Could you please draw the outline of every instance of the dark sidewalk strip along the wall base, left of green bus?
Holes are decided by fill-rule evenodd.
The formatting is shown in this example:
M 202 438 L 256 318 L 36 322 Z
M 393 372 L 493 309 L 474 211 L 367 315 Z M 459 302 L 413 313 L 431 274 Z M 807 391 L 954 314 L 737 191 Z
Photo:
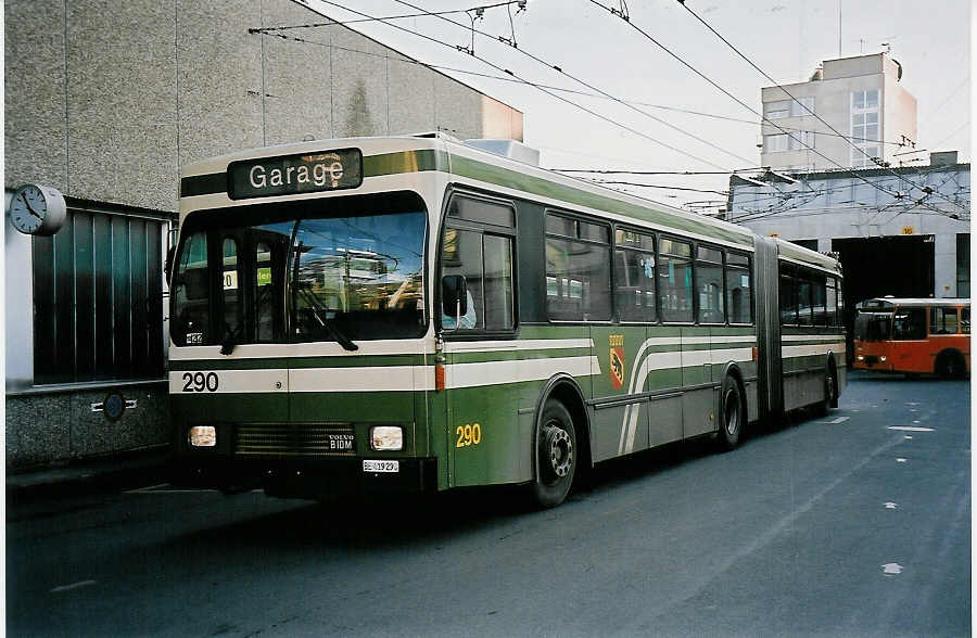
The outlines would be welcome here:
M 59 496 L 76 496 L 120 488 L 165 483 L 169 449 L 166 447 L 119 457 L 78 461 L 64 468 L 7 474 L 7 499 L 26 501 Z

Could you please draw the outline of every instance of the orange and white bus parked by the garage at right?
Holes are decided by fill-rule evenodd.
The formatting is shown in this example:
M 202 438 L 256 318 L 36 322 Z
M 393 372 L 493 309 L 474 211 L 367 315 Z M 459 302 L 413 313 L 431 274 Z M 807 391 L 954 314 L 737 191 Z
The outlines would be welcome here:
M 880 297 L 857 308 L 855 369 L 969 374 L 970 299 Z

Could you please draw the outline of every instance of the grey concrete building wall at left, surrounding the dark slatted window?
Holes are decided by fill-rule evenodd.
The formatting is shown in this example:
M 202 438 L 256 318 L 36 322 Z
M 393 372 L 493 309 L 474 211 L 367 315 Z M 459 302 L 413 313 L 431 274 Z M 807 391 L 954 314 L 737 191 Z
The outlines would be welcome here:
M 180 166 L 231 151 L 437 129 L 522 140 L 518 111 L 346 27 L 249 33 L 322 22 L 293 0 L 4 0 L 7 189 L 176 212 Z M 165 444 L 165 385 L 30 387 L 46 339 L 33 334 L 31 239 L 5 224 L 7 374 L 18 380 L 8 468 Z M 119 388 L 139 393 L 138 409 L 116 422 L 91 412 Z

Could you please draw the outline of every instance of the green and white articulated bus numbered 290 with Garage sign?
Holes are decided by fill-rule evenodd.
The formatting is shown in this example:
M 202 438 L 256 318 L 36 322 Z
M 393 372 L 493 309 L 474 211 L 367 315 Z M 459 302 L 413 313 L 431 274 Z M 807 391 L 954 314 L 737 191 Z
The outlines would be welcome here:
M 188 166 L 170 277 L 183 485 L 549 507 L 846 380 L 835 259 L 441 133 Z

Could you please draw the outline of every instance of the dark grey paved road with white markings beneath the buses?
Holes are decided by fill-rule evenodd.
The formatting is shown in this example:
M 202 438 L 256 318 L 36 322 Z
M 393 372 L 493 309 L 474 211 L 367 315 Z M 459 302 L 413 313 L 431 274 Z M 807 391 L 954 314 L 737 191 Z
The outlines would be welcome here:
M 968 636 L 969 459 L 966 382 L 853 375 L 825 419 L 614 462 L 543 512 L 8 503 L 8 634 Z

